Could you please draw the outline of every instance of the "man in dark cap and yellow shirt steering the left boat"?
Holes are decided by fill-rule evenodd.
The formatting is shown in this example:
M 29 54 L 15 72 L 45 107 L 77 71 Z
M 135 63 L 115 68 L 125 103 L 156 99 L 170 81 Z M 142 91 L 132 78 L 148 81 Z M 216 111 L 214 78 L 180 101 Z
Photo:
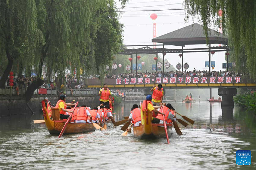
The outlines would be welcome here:
M 60 100 L 57 102 L 55 108 L 58 108 L 60 110 L 60 118 L 61 119 L 67 119 L 69 117 L 69 114 L 66 114 L 66 112 L 73 113 L 73 111 L 68 111 L 67 106 L 75 106 L 75 103 L 65 103 L 66 96 L 64 94 L 61 94 Z

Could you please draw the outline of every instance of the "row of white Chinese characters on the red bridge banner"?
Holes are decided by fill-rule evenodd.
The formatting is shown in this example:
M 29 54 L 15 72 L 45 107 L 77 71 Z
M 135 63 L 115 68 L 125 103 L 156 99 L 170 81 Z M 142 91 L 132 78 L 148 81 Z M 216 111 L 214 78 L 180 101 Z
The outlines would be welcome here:
M 117 78 L 115 84 L 240 83 L 241 77 Z

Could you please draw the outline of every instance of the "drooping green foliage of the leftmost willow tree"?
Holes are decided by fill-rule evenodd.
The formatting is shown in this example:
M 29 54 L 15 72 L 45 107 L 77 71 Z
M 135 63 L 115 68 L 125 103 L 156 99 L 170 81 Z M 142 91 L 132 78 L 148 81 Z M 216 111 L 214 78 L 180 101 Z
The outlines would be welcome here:
M 0 9 L 1 65 L 5 70 L 0 88 L 5 88 L 13 64 L 33 58 L 37 42 L 43 39 L 37 29 L 35 1 L 0 1 Z

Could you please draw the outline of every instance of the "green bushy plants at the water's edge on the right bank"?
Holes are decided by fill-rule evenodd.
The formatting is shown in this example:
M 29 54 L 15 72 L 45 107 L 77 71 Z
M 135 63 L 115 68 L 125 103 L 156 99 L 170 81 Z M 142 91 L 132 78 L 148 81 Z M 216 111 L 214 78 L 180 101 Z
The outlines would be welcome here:
M 234 102 L 240 106 L 248 108 L 248 110 L 256 112 L 256 92 L 254 93 L 243 93 L 234 97 Z

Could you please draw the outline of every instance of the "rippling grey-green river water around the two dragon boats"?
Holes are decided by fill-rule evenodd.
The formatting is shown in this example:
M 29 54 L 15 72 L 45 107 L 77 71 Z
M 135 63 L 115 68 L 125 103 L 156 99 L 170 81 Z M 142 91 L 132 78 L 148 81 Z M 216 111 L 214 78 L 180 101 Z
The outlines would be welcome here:
M 133 104 L 115 106 L 115 120 L 129 116 Z M 169 145 L 166 138 L 123 137 L 120 126 L 59 139 L 32 123 L 42 115 L 2 118 L 0 169 L 256 169 L 255 114 L 221 103 L 172 105 L 195 124 L 178 123 L 183 135 L 173 128 Z M 236 150 L 251 150 L 252 164 L 236 165 Z

